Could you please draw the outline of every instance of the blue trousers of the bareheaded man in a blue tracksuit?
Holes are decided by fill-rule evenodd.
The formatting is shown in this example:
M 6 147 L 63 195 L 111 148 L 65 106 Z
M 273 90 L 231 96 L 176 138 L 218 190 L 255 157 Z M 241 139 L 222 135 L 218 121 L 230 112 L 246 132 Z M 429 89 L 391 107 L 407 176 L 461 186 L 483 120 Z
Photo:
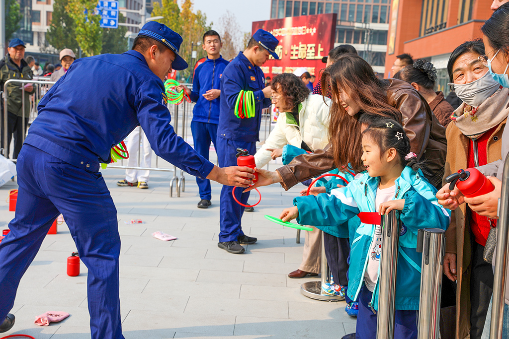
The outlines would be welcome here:
M 210 122 L 191 121 L 192 139 L 194 141 L 194 150 L 202 157 L 209 160 L 210 142 L 216 147 L 217 124 Z M 210 200 L 212 198 L 212 190 L 210 189 L 209 179 L 200 179 L 196 177 L 196 183 L 200 189 L 200 199 Z

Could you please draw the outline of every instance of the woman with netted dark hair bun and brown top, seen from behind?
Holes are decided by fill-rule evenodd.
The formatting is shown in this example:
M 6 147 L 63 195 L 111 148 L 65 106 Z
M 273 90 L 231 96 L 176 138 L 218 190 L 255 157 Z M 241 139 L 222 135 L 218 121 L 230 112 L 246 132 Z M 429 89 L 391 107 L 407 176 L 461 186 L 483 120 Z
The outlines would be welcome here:
M 437 70 L 430 61 L 417 59 L 413 65 L 406 66 L 394 74 L 394 79 L 400 79 L 411 84 L 426 99 L 440 124 L 442 126 L 449 124 L 454 108 L 445 101 L 444 94 L 441 91 L 435 92 Z

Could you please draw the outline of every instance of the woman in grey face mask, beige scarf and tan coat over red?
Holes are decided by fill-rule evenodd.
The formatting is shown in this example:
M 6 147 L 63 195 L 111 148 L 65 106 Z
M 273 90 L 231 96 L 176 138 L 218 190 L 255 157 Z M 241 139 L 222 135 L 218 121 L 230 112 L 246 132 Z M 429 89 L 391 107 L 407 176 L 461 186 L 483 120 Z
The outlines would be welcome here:
M 480 61 L 485 54 L 480 40 L 457 47 L 449 58 L 450 85 L 463 101 L 446 130 L 445 176 L 460 169 L 486 165 L 500 159 L 502 133 L 509 110 L 509 90 L 493 79 Z M 437 197 L 444 198 L 448 184 Z M 447 206 L 446 206 L 447 207 Z M 493 288 L 491 264 L 483 259 L 491 222 L 461 205 L 451 215 L 443 269 L 457 281 L 456 335 L 480 338 Z

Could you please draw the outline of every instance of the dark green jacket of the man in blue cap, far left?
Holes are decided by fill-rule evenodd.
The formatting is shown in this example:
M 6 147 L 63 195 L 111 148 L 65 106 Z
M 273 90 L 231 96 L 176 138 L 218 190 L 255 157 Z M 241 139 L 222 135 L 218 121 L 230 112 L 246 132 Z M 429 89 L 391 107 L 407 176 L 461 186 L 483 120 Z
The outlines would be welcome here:
M 20 87 L 25 84 L 11 83 L 4 88 L 5 82 L 9 79 L 31 80 L 32 77 L 32 70 L 24 59 L 21 60 L 21 72 L 19 71 L 18 65 L 14 64 L 9 54 L 6 54 L 6 56 L 0 60 L 0 91 L 4 91 L 4 96 L 7 95 L 7 110 L 9 112 L 22 116 L 22 89 L 20 89 Z M 33 94 L 34 91 L 35 89 L 30 92 L 25 91 L 25 118 L 28 118 L 30 115 L 30 95 Z M 2 101 L 2 109 L 3 106 L 4 102 Z

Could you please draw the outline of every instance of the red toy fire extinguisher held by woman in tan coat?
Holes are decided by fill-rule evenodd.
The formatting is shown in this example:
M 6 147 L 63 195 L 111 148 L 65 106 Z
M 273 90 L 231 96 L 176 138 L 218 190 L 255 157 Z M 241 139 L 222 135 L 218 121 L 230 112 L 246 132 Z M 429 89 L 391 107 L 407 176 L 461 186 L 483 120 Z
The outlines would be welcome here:
M 445 181 L 450 182 L 449 190 L 454 190 L 456 186 L 467 198 L 487 194 L 495 189 L 491 181 L 475 168 L 461 169 L 446 177 Z

